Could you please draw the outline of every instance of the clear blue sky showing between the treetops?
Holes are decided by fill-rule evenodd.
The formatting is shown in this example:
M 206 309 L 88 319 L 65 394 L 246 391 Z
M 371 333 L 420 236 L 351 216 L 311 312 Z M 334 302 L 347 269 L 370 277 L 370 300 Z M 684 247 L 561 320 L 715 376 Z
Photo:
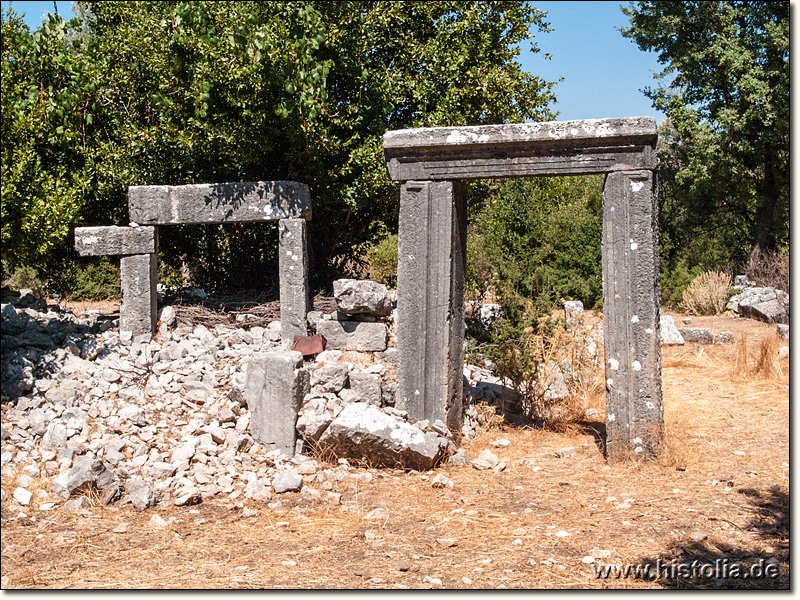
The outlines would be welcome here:
M 31 28 L 38 27 L 42 16 L 53 11 L 53 2 L 11 2 L 14 11 L 26 13 Z M 57 2 L 65 19 L 73 16 L 71 2 Z M 624 3 L 627 5 L 627 2 Z M 2 0 L 3 10 L 9 2 Z M 620 2 L 532 2 L 547 11 L 553 31 L 536 33 L 542 54 L 524 48 L 519 61 L 523 69 L 547 81 L 563 77 L 555 88 L 558 119 L 600 119 L 612 117 L 653 116 L 661 121 L 640 90 L 655 85 L 653 73 L 661 70 L 656 55 L 646 53 L 617 28 L 627 25 Z

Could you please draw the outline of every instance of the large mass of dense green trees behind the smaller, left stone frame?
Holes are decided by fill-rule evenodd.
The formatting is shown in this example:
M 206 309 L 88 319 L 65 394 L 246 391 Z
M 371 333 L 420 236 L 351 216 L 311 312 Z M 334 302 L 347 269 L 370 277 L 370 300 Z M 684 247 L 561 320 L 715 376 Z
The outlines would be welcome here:
M 291 179 L 310 186 L 320 280 L 396 230 L 381 135 L 551 117 L 518 45 L 518 2 L 78 2 L 2 26 L 2 245 L 61 264 L 75 225 L 126 224 L 129 185 Z M 532 44 L 532 49 L 538 48 Z M 162 227 L 175 270 L 210 287 L 275 276 L 269 225 Z

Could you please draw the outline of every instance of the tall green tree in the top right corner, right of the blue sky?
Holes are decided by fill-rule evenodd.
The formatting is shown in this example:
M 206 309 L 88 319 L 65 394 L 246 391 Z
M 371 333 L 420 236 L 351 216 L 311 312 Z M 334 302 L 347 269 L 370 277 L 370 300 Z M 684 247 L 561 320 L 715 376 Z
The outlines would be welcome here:
M 787 245 L 789 2 L 622 10 L 622 34 L 665 65 L 662 85 L 645 93 L 669 117 L 662 180 L 674 193 L 668 210 L 684 212 L 682 239 L 705 232 L 738 260 Z

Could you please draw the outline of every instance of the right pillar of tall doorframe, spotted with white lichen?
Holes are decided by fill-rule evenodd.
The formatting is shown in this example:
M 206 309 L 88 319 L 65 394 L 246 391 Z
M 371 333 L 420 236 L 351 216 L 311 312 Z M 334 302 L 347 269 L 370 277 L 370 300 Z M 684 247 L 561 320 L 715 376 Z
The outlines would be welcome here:
M 652 457 L 663 430 L 656 175 L 609 173 L 603 188 L 603 315 L 609 458 Z

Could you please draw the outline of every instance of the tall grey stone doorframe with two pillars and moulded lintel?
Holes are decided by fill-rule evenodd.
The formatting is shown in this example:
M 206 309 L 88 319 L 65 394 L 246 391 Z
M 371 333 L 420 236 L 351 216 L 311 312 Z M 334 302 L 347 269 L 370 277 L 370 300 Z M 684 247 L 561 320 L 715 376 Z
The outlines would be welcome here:
M 653 456 L 663 429 L 655 119 L 436 127 L 383 136 L 401 182 L 397 406 L 462 425 L 464 180 L 604 174 L 606 451 Z

